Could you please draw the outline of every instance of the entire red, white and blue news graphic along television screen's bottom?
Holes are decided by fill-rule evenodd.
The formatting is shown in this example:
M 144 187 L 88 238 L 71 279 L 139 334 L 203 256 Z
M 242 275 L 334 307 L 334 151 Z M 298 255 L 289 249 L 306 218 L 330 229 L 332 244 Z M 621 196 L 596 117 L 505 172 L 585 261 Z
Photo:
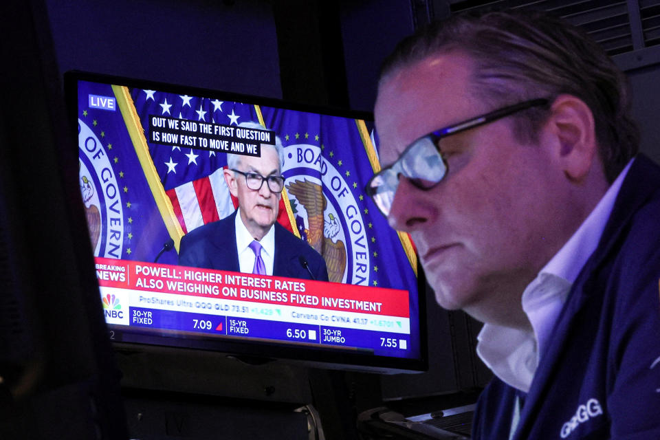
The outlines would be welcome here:
M 354 347 L 410 345 L 405 290 L 96 259 L 109 324 Z

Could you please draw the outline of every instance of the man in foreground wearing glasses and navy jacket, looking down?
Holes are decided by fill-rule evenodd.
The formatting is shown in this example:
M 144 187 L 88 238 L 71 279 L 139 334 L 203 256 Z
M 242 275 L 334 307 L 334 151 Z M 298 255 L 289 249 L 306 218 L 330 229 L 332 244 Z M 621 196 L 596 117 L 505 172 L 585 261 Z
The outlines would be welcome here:
M 660 168 L 629 99 L 540 14 L 454 17 L 384 64 L 366 190 L 438 303 L 485 323 L 475 439 L 660 439 Z

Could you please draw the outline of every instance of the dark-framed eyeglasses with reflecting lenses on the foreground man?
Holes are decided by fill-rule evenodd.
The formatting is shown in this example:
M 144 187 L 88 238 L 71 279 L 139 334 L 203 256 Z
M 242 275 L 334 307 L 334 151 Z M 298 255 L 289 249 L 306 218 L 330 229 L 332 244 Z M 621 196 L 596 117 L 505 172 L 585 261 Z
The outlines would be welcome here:
M 518 111 L 546 105 L 548 102 L 549 100 L 545 98 L 519 102 L 419 137 L 406 148 L 396 162 L 373 175 L 364 190 L 376 203 L 380 212 L 387 216 L 392 208 L 400 176 L 406 177 L 417 188 L 428 190 L 439 184 L 447 175 L 448 164 L 439 145 L 443 137 L 489 124 Z

